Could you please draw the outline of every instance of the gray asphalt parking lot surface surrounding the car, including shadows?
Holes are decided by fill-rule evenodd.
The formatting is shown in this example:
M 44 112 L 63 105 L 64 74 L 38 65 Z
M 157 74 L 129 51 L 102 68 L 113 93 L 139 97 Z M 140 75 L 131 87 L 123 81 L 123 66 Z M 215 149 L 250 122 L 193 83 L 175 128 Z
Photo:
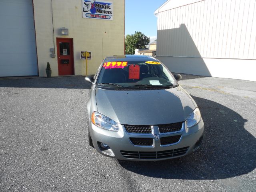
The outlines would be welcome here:
M 88 145 L 84 77 L 0 80 L 0 191 L 256 191 L 256 82 L 182 74 L 205 124 L 194 154 L 129 162 Z

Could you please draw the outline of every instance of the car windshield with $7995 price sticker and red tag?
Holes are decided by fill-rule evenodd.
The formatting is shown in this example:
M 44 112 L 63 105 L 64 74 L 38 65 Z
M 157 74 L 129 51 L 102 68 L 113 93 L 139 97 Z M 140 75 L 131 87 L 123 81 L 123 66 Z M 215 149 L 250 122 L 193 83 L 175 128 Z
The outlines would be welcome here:
M 100 70 L 97 85 L 139 87 L 174 86 L 170 72 L 157 61 L 105 62 Z

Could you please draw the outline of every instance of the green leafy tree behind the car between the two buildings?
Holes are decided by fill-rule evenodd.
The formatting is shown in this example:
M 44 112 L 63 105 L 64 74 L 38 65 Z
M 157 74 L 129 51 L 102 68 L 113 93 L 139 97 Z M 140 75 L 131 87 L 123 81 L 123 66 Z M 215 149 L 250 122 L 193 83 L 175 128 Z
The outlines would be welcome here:
M 126 35 L 125 53 L 135 54 L 135 49 L 145 49 L 149 42 L 149 37 L 144 35 L 142 32 L 135 32 L 134 35 Z

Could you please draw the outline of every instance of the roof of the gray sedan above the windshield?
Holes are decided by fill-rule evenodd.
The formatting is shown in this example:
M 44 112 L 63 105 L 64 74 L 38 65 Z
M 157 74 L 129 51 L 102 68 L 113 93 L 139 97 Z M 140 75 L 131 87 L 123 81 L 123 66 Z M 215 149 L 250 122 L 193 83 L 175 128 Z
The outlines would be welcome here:
M 105 62 L 112 61 L 158 61 L 156 58 L 147 55 L 113 55 L 107 56 Z

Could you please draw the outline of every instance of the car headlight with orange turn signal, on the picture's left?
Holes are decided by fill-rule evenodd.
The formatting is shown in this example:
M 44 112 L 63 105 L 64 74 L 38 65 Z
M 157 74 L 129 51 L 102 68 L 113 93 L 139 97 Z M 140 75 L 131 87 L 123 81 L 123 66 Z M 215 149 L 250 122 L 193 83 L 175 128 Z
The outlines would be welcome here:
M 119 130 L 118 125 L 114 120 L 95 111 L 92 113 L 91 121 L 94 125 L 102 129 L 109 131 Z

